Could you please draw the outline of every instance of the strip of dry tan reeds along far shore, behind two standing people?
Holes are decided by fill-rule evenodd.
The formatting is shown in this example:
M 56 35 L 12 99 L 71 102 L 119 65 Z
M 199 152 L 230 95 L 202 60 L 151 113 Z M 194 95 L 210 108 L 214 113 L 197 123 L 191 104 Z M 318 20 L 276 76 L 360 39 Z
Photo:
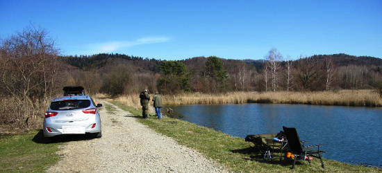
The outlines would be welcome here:
M 152 97 L 152 95 L 151 95 Z M 282 104 L 317 104 L 357 107 L 381 107 L 382 99 L 373 90 L 343 90 L 319 92 L 230 92 L 230 93 L 183 93 L 162 95 L 163 104 L 242 104 L 282 103 Z M 122 95 L 116 99 L 125 105 L 142 109 L 138 94 Z M 151 103 L 151 102 L 150 102 Z M 152 109 L 152 108 L 150 108 Z

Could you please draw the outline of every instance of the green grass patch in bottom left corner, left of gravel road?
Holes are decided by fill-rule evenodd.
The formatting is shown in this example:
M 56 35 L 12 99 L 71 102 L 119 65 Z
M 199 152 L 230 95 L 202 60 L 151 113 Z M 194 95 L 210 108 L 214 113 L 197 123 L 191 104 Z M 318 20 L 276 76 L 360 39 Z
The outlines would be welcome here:
M 0 136 L 0 172 L 43 172 L 57 163 L 58 145 L 46 143 L 42 131 Z

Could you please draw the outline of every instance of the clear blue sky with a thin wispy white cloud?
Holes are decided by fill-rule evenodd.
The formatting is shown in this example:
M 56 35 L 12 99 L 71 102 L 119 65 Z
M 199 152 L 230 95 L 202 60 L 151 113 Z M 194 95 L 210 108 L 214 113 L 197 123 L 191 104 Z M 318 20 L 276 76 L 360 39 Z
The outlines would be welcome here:
M 122 53 L 161 60 L 286 59 L 346 53 L 382 58 L 382 1 L 0 0 L 0 36 L 30 23 L 63 55 Z

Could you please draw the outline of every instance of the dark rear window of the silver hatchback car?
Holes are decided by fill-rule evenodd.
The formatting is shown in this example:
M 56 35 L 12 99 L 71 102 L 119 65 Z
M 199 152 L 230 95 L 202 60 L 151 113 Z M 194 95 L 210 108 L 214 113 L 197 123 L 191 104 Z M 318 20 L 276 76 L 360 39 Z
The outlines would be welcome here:
M 52 110 L 83 109 L 90 107 L 90 100 L 63 100 L 51 102 Z

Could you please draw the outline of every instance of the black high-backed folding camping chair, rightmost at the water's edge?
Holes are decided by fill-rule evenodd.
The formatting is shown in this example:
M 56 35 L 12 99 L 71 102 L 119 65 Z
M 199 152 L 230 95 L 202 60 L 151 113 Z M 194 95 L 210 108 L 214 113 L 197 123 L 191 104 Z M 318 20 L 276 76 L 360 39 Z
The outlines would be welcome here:
M 319 146 L 323 144 L 309 145 L 305 147 L 304 143 L 308 141 L 300 140 L 299 134 L 297 134 L 296 128 L 288 128 L 283 126 L 283 129 L 284 129 L 285 136 L 288 140 L 288 146 L 289 146 L 290 152 L 295 155 L 292 169 L 294 169 L 294 165 L 296 164 L 297 158 L 299 158 L 302 161 L 308 160 L 310 163 L 309 156 L 318 157 L 321 160 L 322 168 L 325 167 L 324 162 L 322 162 L 322 156 L 321 156 L 321 153 L 324 153 L 324 151 L 319 150 Z M 317 147 L 317 149 L 313 147 Z

